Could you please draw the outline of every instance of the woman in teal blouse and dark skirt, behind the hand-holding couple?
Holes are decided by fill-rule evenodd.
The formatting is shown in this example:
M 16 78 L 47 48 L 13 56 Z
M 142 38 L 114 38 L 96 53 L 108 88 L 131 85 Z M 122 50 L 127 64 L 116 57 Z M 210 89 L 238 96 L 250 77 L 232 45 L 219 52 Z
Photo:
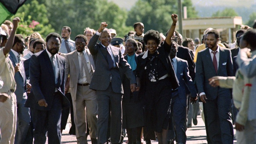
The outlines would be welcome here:
M 134 39 L 128 39 L 125 43 L 125 51 L 127 55 L 124 59 L 131 66 L 136 76 L 137 57 L 135 53 L 138 49 L 138 43 Z M 123 128 L 126 128 L 128 136 L 128 144 L 141 144 L 141 131 L 144 125 L 143 121 L 143 105 L 138 97 L 138 91 L 131 92 L 130 81 L 125 75 L 121 76 L 124 88 L 122 99 L 123 108 Z

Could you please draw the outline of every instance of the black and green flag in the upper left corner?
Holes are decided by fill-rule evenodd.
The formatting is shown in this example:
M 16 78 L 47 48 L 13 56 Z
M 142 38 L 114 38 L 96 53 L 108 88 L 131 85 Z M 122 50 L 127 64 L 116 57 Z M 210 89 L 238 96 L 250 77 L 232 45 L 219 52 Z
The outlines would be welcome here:
M 26 0 L 0 0 L 0 24 L 6 19 L 16 14 Z

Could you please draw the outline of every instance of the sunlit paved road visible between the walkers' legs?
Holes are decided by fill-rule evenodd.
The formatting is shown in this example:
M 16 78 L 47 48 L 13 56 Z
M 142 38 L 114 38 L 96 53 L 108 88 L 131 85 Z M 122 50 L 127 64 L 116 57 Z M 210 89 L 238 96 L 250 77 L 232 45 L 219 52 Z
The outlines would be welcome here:
M 77 144 L 77 139 L 74 135 L 69 135 L 69 126 L 71 125 L 69 123 L 70 118 L 68 120 L 68 124 L 66 125 L 66 129 L 63 130 L 62 138 L 61 138 L 61 143 L 65 144 Z M 197 117 L 198 124 L 193 125 L 191 128 L 188 128 L 186 131 L 187 134 L 187 143 L 186 144 L 207 144 L 206 141 L 206 132 L 205 132 L 205 125 L 203 123 L 203 120 L 201 116 L 199 115 Z M 236 130 L 234 129 L 234 134 L 236 134 Z M 124 143 L 126 144 L 125 141 L 127 140 L 127 136 L 124 138 Z M 46 142 L 48 144 L 48 142 Z M 91 144 L 90 137 L 88 136 L 88 144 Z M 145 144 L 145 141 L 144 141 Z M 152 141 L 152 144 L 158 144 L 157 141 Z M 234 140 L 234 144 L 236 144 L 236 139 Z

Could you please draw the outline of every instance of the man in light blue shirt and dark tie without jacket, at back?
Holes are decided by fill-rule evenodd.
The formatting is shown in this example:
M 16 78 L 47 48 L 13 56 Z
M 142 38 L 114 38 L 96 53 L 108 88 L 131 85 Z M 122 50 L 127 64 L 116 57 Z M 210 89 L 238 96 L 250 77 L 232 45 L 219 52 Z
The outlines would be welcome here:
M 61 45 L 60 53 L 70 53 L 75 50 L 75 42 L 70 39 L 71 28 L 69 26 L 63 26 L 61 30 Z

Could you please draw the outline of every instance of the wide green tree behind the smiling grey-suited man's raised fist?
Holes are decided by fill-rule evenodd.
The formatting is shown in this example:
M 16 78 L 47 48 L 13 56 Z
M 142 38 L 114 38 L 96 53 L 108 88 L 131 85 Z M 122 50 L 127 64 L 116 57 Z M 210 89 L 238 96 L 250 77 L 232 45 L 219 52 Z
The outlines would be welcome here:
M 46 0 L 49 22 L 56 32 L 60 33 L 63 26 L 71 27 L 71 39 L 83 34 L 86 27 L 97 30 L 101 22 L 107 22 L 108 28 L 117 30 L 123 37 L 127 33 L 125 25 L 127 12 L 121 10 L 113 2 L 106 0 Z

